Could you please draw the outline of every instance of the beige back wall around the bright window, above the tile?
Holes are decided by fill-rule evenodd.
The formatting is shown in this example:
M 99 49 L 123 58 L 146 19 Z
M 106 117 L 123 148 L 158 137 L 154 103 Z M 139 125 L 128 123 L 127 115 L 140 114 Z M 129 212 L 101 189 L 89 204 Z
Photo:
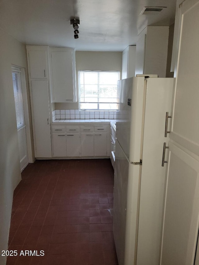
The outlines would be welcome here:
M 55 109 L 78 109 L 78 71 L 120 71 L 122 78 L 122 52 L 83 52 L 76 51 L 76 103 L 55 103 Z

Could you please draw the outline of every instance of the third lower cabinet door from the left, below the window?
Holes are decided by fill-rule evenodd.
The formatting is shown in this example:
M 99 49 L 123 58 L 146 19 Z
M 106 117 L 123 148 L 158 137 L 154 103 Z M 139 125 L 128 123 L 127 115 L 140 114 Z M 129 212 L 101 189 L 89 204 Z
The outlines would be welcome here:
M 81 133 L 81 156 L 94 155 L 94 135 L 91 133 Z

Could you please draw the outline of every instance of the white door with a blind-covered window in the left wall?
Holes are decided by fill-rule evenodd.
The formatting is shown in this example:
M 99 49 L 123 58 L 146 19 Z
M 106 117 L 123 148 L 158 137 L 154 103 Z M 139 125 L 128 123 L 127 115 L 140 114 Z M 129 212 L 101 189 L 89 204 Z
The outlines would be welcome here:
M 26 127 L 25 127 L 25 116 L 24 116 L 24 102 L 22 94 L 22 82 L 21 69 L 16 66 L 12 66 L 12 82 L 15 99 L 15 110 L 16 110 L 16 124 L 18 133 L 18 145 L 19 145 L 19 158 L 21 171 L 28 164 L 28 151 L 27 151 L 27 139 L 26 139 Z M 25 78 L 25 77 L 24 77 Z

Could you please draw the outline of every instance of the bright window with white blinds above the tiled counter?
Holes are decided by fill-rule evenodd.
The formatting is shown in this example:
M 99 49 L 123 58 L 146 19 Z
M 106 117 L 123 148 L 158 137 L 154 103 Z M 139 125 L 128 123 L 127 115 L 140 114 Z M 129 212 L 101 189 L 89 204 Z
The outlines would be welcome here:
M 120 72 L 78 71 L 80 110 L 118 110 Z

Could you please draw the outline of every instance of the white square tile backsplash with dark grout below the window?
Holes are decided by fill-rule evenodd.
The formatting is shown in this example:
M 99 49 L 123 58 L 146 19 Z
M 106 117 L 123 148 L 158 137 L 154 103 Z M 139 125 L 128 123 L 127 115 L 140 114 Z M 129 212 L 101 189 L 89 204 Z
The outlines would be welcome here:
M 116 111 L 79 111 L 78 109 L 56 109 L 53 121 L 60 119 L 116 119 Z

